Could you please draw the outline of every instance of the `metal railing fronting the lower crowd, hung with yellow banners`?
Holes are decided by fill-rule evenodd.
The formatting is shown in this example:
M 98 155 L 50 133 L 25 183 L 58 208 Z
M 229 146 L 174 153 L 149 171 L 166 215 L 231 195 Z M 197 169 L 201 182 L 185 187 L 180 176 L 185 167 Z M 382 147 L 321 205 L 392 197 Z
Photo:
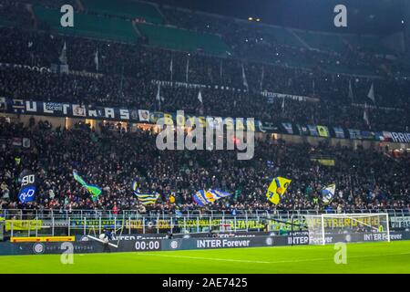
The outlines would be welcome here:
M 390 218 L 409 216 L 408 209 L 349 210 L 354 214 L 387 213 Z M 329 212 L 328 212 L 329 213 Z M 261 232 L 278 234 L 303 231 L 304 215 L 321 214 L 318 210 L 294 210 L 269 213 L 266 210 L 230 214 L 212 210 L 207 213 L 166 214 L 123 210 L 0 210 L 5 218 L 6 236 L 97 235 L 105 228 L 121 230 L 124 235 L 195 234 L 221 231 Z M 267 226 L 269 228 L 267 229 Z

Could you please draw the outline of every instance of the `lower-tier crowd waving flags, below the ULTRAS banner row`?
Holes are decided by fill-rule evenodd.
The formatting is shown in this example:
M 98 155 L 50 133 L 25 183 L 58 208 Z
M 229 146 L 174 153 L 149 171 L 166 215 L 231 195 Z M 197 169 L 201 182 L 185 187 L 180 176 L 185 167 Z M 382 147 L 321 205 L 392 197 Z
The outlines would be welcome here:
M 111 125 L 112 126 L 112 125 Z M 393 159 L 384 149 L 352 150 L 326 144 L 287 144 L 263 137 L 256 141 L 250 161 L 236 160 L 236 151 L 159 151 L 156 134 L 101 125 L 101 132 L 86 124 L 72 130 L 53 130 L 48 122 L 22 124 L 3 121 L 3 141 L 29 137 L 26 151 L 3 144 L 0 150 L 0 209 L 106 209 L 140 212 L 175 210 L 272 210 L 265 197 L 272 177 L 280 175 L 292 183 L 277 209 L 353 210 L 409 208 L 410 185 L 405 153 Z M 335 160 L 335 166 L 311 161 L 318 155 Z M 18 202 L 17 178 L 23 170 L 37 175 L 35 203 Z M 103 189 L 96 202 L 76 183 L 73 169 Z M 132 193 L 138 178 L 141 190 L 158 192 L 159 201 L 143 206 Z M 336 183 L 333 202 L 324 206 L 320 190 Z M 200 189 L 220 188 L 232 193 L 204 208 L 193 203 Z M 175 202 L 173 199 L 175 199 Z

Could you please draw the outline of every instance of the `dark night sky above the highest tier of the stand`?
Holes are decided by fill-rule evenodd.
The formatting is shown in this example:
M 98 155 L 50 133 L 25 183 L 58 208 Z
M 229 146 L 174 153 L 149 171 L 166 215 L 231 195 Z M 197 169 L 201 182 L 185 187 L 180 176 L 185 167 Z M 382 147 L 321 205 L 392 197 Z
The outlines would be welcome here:
M 389 34 L 403 28 L 403 3 L 410 0 L 150 0 L 193 10 L 321 31 Z M 333 7 L 346 5 L 348 27 L 333 26 Z

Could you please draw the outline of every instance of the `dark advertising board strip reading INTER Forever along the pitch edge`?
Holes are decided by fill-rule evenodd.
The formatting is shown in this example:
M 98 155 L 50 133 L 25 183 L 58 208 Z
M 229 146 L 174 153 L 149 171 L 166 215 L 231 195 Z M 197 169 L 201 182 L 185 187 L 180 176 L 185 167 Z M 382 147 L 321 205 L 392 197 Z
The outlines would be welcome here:
M 326 241 L 330 244 L 349 242 L 355 238 L 364 242 L 381 241 L 382 235 L 369 234 L 341 234 L 326 235 Z M 410 240 L 410 232 L 395 232 L 391 234 L 391 240 Z M 218 248 L 247 248 L 262 246 L 286 246 L 308 245 L 307 233 L 294 235 L 255 235 L 254 237 L 199 237 L 199 238 L 174 238 L 174 239 L 140 239 L 122 240 L 118 242 L 118 248 L 103 245 L 94 240 L 71 242 L 74 254 L 108 253 L 108 252 L 145 252 L 145 251 L 172 251 L 172 250 L 195 250 L 195 249 L 218 249 Z M 67 242 L 38 242 L 38 243 L 0 243 L 0 255 L 47 255 L 67 253 Z

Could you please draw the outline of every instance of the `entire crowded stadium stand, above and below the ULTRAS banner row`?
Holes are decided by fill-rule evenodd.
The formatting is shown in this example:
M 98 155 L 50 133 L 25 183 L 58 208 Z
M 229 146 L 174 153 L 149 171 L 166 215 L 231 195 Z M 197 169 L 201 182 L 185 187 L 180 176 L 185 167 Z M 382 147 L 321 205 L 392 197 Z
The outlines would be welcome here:
M 374 56 L 391 52 L 373 36 L 302 32 L 139 2 L 127 9 L 105 0 L 72 4 L 78 3 L 83 10 L 76 13 L 76 26 L 62 28 L 60 1 L 2 1 L 0 97 L 409 131 L 410 82 L 398 63 L 403 58 L 397 56 L 396 63 Z M 48 70 L 63 63 L 64 44 L 69 73 Z M 160 106 L 157 81 L 162 82 Z M 193 84 L 202 86 L 203 103 Z M 374 100 L 368 98 L 372 86 Z M 269 99 L 263 92 L 310 101 Z M 372 106 L 368 120 L 364 105 Z M 407 152 L 395 159 L 384 149 L 267 140 L 259 141 L 254 160 L 237 162 L 229 151 L 160 153 L 152 148 L 155 135 L 149 131 L 130 132 L 113 123 L 99 127 L 101 132 L 84 124 L 54 129 L 46 121 L 25 127 L 3 120 L 0 138 L 29 137 L 34 146 L 32 151 L 1 148 L 0 209 L 23 207 L 15 178 L 24 167 L 41 177 L 36 203 L 27 208 L 110 209 L 118 203 L 122 209 L 143 209 L 129 190 L 139 175 L 146 178 L 144 187 L 161 194 L 153 210 L 197 208 L 191 203 L 193 187 L 210 186 L 238 194 L 214 208 L 269 209 L 266 183 L 279 169 L 295 178 L 283 209 L 321 208 L 313 198 L 330 181 L 340 186 L 335 210 L 410 207 Z M 317 155 L 333 156 L 335 166 L 312 162 Z M 274 161 L 273 169 L 267 160 Z M 103 187 L 97 203 L 74 183 L 73 168 Z M 177 203 L 168 202 L 170 193 Z

